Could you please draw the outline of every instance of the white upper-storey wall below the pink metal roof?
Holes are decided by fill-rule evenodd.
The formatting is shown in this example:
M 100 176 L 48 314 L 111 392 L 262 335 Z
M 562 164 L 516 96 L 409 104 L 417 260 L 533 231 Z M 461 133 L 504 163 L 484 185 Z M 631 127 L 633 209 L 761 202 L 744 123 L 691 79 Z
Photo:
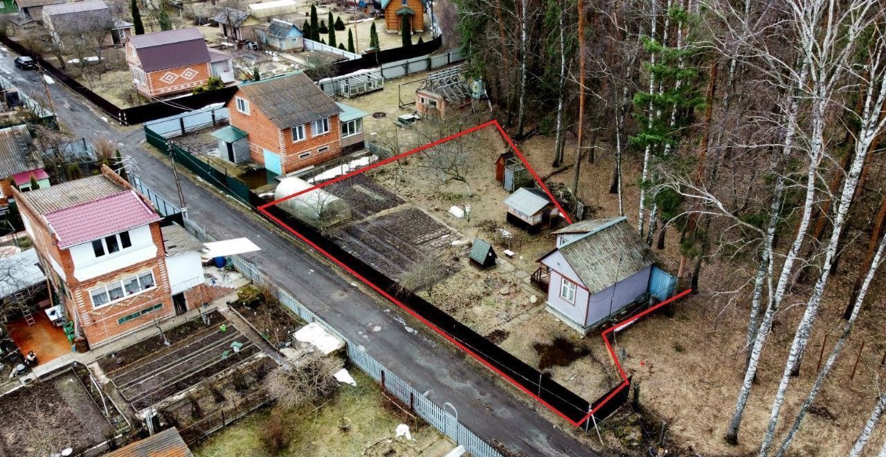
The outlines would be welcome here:
M 74 261 L 74 277 L 78 281 L 86 281 L 157 256 L 150 226 L 129 230 L 129 241 L 132 245 L 128 248 L 101 257 L 96 257 L 91 242 L 72 246 L 70 252 Z

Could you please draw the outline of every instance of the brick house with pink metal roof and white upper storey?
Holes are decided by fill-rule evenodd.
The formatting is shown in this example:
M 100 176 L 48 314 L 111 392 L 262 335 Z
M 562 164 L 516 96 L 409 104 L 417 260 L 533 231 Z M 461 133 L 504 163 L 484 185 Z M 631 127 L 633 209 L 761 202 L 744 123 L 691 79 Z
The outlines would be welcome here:
M 88 178 L 13 194 L 53 305 L 64 306 L 74 334 L 89 345 L 183 313 L 189 305 L 185 292 L 203 283 L 199 254 L 196 263 L 180 255 L 198 252 L 202 244 L 176 241 L 175 250 L 169 249 L 164 236 L 170 235 L 160 228 L 151 203 L 108 167 Z

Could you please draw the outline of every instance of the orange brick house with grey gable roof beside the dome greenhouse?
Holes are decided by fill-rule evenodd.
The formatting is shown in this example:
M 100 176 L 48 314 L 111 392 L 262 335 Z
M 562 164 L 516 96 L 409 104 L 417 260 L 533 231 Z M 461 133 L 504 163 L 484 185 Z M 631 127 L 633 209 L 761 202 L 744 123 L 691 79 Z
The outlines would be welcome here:
M 214 136 L 222 157 L 236 161 L 248 148 L 253 161 L 276 174 L 337 158 L 342 153 L 344 110 L 304 73 L 240 84 L 228 102 L 230 126 Z M 365 114 L 365 113 L 364 113 Z M 362 135 L 362 122 L 347 120 L 350 136 Z M 357 126 L 359 124 L 359 132 Z

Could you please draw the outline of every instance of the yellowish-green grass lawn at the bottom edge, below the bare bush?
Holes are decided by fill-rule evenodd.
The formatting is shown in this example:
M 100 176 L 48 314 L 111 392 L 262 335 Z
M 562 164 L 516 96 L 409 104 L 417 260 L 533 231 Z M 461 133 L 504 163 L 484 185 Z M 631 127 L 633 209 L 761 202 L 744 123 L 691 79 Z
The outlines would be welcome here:
M 291 439 L 280 455 L 363 455 L 369 447 L 367 455 L 385 455 L 388 450 L 395 450 L 394 455 L 434 454 L 429 448 L 438 449 L 443 440 L 436 429 L 419 422 L 419 430 L 415 430 L 412 418 L 393 406 L 375 381 L 359 370 L 350 371 L 356 387 L 341 384 L 335 396 L 316 411 L 303 407 L 284 414 Z M 268 455 L 261 430 L 270 415 L 270 408 L 260 409 L 214 434 L 193 452 L 198 457 Z M 338 429 L 340 417 L 351 420 L 350 430 Z M 400 423 L 409 425 L 414 441 L 394 438 Z

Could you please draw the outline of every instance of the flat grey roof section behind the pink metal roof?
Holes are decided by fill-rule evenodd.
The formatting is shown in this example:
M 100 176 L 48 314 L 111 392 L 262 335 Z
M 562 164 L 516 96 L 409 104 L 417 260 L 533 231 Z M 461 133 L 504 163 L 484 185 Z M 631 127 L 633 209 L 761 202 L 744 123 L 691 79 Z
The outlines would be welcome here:
M 74 181 L 62 182 L 46 189 L 21 194 L 38 214 L 91 202 L 119 194 L 124 189 L 102 174 Z

